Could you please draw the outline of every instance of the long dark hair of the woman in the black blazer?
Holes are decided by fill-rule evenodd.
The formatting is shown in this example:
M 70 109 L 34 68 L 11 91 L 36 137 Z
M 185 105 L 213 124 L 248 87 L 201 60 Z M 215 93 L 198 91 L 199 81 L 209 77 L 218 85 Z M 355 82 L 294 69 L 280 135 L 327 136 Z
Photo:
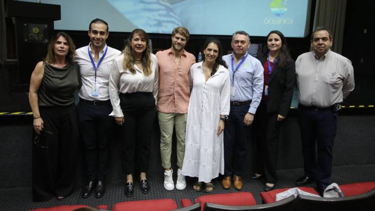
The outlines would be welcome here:
M 275 64 L 278 64 L 280 67 L 285 68 L 288 65 L 288 63 L 290 63 L 290 61 L 292 60 L 292 57 L 291 57 L 291 54 L 289 53 L 287 40 L 285 39 L 283 33 L 281 33 L 280 31 L 274 30 L 268 33 L 266 37 L 266 42 L 263 44 L 263 50 L 262 50 L 263 56 L 267 56 L 267 53 L 269 51 L 267 41 L 271 34 L 277 34 L 278 36 L 280 36 L 280 39 L 281 39 L 281 48 L 280 48 L 278 59 Z

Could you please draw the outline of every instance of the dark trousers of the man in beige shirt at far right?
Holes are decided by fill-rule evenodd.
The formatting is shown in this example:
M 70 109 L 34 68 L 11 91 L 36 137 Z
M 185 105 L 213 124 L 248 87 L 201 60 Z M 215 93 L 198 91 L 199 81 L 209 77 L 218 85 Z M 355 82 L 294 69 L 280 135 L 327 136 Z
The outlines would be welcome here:
M 337 113 L 331 108 L 312 110 L 299 106 L 298 123 L 301 130 L 305 174 L 315 178 L 317 190 L 323 192 L 329 185 L 332 175 Z

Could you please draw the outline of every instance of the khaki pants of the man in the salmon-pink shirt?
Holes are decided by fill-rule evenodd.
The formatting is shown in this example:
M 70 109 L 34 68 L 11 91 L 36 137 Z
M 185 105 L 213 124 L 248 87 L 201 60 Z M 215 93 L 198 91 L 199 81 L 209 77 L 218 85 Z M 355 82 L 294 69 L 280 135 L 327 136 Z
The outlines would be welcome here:
M 177 137 L 177 166 L 182 168 L 185 156 L 185 131 L 187 114 L 158 112 L 160 127 L 160 154 L 164 169 L 171 167 L 170 155 L 172 151 L 173 126 Z

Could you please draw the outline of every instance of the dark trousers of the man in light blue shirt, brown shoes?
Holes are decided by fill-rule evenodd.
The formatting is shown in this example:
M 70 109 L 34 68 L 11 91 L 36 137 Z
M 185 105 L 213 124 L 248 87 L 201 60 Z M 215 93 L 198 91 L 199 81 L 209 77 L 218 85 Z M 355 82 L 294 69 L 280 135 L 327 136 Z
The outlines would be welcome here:
M 241 176 L 244 168 L 250 126 L 245 126 L 244 117 L 250 105 L 230 105 L 224 129 L 224 174 Z

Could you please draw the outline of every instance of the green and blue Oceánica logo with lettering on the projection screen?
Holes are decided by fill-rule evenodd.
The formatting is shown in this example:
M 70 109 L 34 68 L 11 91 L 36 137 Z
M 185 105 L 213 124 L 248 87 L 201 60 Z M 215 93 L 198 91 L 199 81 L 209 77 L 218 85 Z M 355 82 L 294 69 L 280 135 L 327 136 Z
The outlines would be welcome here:
M 287 8 L 287 0 L 272 0 L 270 4 L 271 13 L 277 17 L 284 15 Z M 291 18 L 269 18 L 264 19 L 265 24 L 292 24 L 293 19 Z

